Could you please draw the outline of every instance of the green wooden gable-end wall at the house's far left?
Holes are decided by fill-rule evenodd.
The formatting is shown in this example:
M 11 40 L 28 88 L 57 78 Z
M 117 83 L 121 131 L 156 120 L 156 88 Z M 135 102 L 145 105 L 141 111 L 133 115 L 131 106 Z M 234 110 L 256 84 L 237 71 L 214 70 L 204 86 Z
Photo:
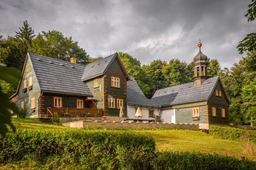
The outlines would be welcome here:
M 27 67 L 27 68 L 26 68 Z M 27 72 L 27 73 L 26 73 Z M 27 87 L 29 87 L 29 77 L 33 76 L 33 88 L 32 90 L 29 90 L 27 88 L 27 92 L 23 92 L 23 81 L 27 79 Z M 27 109 L 27 116 L 33 116 L 33 115 L 38 115 L 38 98 L 40 96 L 40 87 L 38 84 L 38 81 L 36 80 L 35 72 L 32 67 L 32 63 L 30 59 L 27 59 L 26 65 L 25 65 L 25 70 L 24 70 L 24 75 L 22 78 L 22 82 L 20 83 L 20 88 L 18 91 L 18 101 L 17 101 L 17 106 L 20 107 L 20 103 L 22 101 L 25 101 L 25 108 Z M 31 98 L 35 97 L 36 100 L 36 108 L 34 112 L 30 111 L 31 108 Z

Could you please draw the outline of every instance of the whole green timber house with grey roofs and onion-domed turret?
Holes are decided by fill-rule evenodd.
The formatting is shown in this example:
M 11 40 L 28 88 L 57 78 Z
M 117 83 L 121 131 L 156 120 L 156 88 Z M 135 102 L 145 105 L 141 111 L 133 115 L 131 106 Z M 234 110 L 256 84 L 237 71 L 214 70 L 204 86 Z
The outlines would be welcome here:
M 127 73 L 118 54 L 89 65 L 28 53 L 16 93 L 11 100 L 28 111 L 27 117 L 57 112 L 60 116 L 86 112 L 94 116 L 164 123 L 193 123 L 207 128 L 210 124 L 228 124 L 228 107 L 219 77 L 207 76 L 207 57 L 201 52 L 194 58 L 193 82 L 159 89 L 147 99 L 135 79 Z M 142 117 L 135 117 L 137 109 Z M 79 113 L 79 114 L 78 114 Z

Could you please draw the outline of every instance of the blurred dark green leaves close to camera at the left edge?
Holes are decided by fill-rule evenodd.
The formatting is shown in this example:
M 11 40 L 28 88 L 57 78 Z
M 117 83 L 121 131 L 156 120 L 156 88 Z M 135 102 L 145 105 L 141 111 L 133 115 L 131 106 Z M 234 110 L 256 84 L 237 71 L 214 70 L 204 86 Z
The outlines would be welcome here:
M 17 85 L 18 80 L 22 78 L 20 72 L 13 67 L 5 67 L 0 65 L 0 80 L 10 83 L 12 85 Z M 17 106 L 11 102 L 7 95 L 4 94 L 0 87 L 0 134 L 5 135 L 8 132 L 9 125 L 13 131 L 15 131 L 15 127 L 11 122 L 11 114 L 10 110 L 14 111 L 15 113 L 19 112 Z

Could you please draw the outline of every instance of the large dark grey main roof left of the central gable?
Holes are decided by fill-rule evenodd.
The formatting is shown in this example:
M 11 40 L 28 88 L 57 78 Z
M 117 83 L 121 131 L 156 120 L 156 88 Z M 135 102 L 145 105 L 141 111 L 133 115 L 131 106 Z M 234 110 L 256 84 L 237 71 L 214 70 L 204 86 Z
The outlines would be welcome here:
M 81 81 L 84 65 L 29 53 L 41 91 L 92 96 Z

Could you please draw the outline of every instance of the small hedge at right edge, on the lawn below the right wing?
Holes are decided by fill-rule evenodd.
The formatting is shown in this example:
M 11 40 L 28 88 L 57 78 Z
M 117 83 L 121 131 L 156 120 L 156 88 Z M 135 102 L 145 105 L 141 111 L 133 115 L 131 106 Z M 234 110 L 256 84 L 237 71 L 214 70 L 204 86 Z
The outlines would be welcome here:
M 209 134 L 222 139 L 241 140 L 249 138 L 256 142 L 256 131 L 231 127 L 210 126 Z

